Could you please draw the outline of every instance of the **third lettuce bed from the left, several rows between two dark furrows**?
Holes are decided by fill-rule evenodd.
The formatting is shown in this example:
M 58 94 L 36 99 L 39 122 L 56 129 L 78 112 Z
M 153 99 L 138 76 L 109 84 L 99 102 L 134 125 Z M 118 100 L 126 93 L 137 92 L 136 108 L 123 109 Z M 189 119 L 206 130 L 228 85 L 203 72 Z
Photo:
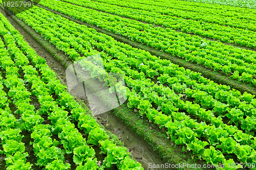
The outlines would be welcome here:
M 200 37 L 177 33 L 172 30 L 125 19 L 91 9 L 77 7 L 63 2 L 51 4 L 41 1 L 40 4 L 70 15 L 74 18 L 96 25 L 102 29 L 130 38 L 148 46 L 163 50 L 170 55 L 184 58 L 187 61 L 204 65 L 216 71 L 231 74 L 233 79 L 256 84 L 255 52 L 205 41 Z M 80 15 L 82 13 L 83 15 Z M 225 49 L 225 50 L 224 50 Z M 244 54 L 244 55 L 243 55 Z

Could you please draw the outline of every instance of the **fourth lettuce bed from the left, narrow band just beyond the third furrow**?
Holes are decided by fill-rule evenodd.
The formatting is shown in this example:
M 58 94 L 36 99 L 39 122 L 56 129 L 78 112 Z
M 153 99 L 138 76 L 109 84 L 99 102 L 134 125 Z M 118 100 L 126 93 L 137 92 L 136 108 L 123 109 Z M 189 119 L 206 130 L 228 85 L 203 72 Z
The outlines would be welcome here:
M 88 7 L 108 13 L 112 13 L 119 16 L 129 17 L 132 19 L 146 21 L 154 23 L 155 25 L 163 26 L 166 28 L 178 30 L 181 29 L 185 33 L 193 33 L 195 35 L 201 35 L 208 38 L 213 38 L 226 43 L 237 43 L 238 45 L 255 47 L 251 38 L 255 37 L 254 32 L 248 33 L 246 30 L 234 29 L 224 26 L 218 26 L 216 24 L 209 24 L 203 21 L 189 20 L 176 16 L 162 15 L 157 12 L 152 12 L 142 9 L 134 9 L 133 6 L 120 7 L 118 5 L 111 5 L 110 2 L 93 2 L 93 1 L 73 1 L 63 0 L 72 4 Z M 232 21 L 232 25 L 234 22 Z M 193 26 L 193 27 L 191 27 Z M 233 26 L 232 26 L 233 27 Z M 251 34 L 249 38 L 244 37 L 245 34 Z M 243 35 L 243 37 L 241 37 Z M 246 40 L 248 42 L 246 42 Z M 254 44 L 254 45 L 253 45 Z

